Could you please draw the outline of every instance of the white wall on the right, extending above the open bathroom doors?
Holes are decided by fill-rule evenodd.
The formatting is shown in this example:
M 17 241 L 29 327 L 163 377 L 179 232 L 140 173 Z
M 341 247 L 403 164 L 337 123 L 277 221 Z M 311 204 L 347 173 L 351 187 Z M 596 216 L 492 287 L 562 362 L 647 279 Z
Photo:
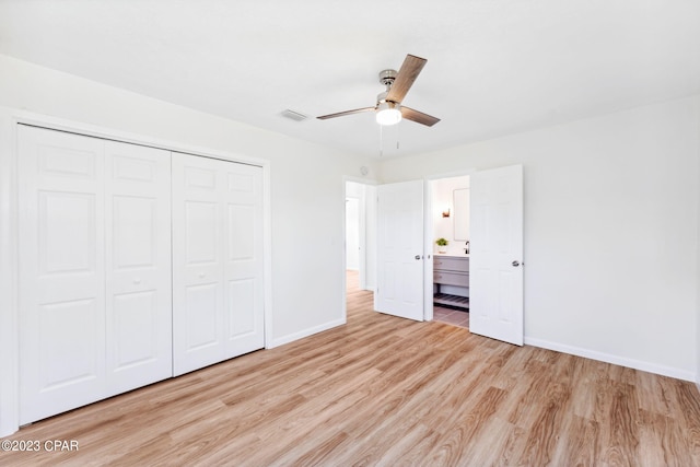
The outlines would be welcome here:
M 699 102 L 386 160 L 380 176 L 523 164 L 525 341 L 695 380 Z

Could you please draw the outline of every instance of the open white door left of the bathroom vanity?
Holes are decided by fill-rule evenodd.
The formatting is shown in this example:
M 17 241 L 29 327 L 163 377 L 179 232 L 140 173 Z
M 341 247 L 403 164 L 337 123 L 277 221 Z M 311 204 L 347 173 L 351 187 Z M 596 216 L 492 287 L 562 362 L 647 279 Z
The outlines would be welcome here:
M 423 182 L 377 187 L 377 290 L 374 308 L 423 320 Z

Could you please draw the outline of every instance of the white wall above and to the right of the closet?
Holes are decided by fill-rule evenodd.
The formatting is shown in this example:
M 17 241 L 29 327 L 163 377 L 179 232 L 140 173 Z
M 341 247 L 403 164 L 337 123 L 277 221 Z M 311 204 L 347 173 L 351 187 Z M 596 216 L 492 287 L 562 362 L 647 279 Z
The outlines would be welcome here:
M 0 56 L 0 105 L 270 161 L 270 343 L 342 322 L 343 177 L 361 177 L 363 165 L 371 177 L 372 161 L 7 56 Z

